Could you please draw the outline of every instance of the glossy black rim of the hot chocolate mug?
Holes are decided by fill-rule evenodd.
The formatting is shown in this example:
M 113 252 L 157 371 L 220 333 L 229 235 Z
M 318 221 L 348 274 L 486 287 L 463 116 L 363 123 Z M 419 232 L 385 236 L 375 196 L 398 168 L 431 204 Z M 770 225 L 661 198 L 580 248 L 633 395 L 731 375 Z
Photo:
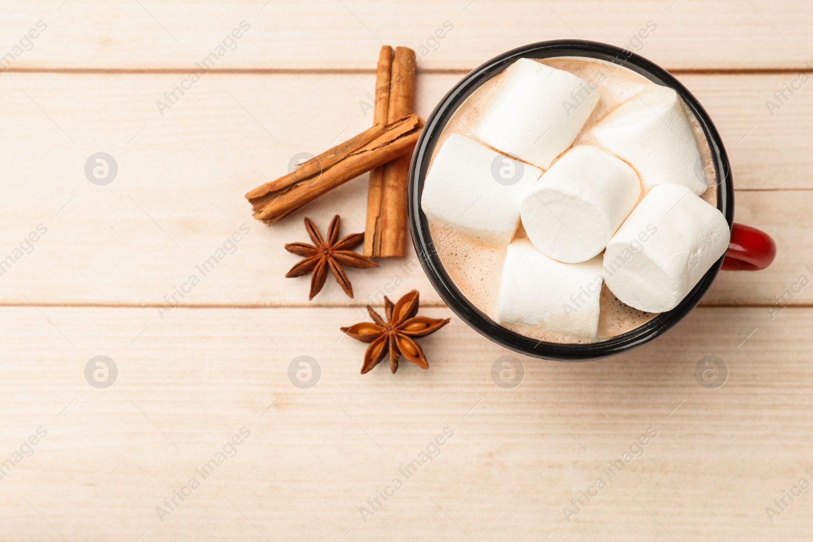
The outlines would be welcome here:
M 415 252 L 418 255 L 421 267 L 427 275 L 429 281 L 440 295 L 446 305 L 454 311 L 454 314 L 462 319 L 469 327 L 472 327 L 489 340 L 502 345 L 507 349 L 533 358 L 551 359 L 557 361 L 577 362 L 591 359 L 607 358 L 619 353 L 635 349 L 646 344 L 655 337 L 669 331 L 676 323 L 683 319 L 689 311 L 698 305 L 706 290 L 715 280 L 717 272 L 723 265 L 725 255 L 721 256 L 706 274 L 695 284 L 694 288 L 686 297 L 672 310 L 660 313 L 653 319 L 638 327 L 634 327 L 628 332 L 613 336 L 609 339 L 599 340 L 593 343 L 551 343 L 544 340 L 533 339 L 528 336 L 512 332 L 506 327 L 494 322 L 485 313 L 479 310 L 467 297 L 459 290 L 454 280 L 451 280 L 446 268 L 443 266 L 437 250 L 434 248 L 432 234 L 429 231 L 428 220 L 421 210 L 420 202 L 423 196 L 424 181 L 428 172 L 428 165 L 432 158 L 433 151 L 437 146 L 437 140 L 441 132 L 446 128 L 454 112 L 466 99 L 484 85 L 486 81 L 497 76 L 503 69 L 514 63 L 515 60 L 528 59 L 550 59 L 557 57 L 580 57 L 586 59 L 598 59 L 609 63 L 626 67 L 638 75 L 646 77 L 658 85 L 668 86 L 675 89 L 680 98 L 698 120 L 703 134 L 706 137 L 711 150 L 712 165 L 715 168 L 715 179 L 717 185 L 717 209 L 719 209 L 728 222 L 729 230 L 732 228 L 734 215 L 734 188 L 731 176 L 731 167 L 728 162 L 720 133 L 717 132 L 714 123 L 700 105 L 697 98 L 685 88 L 672 74 L 659 67 L 638 54 L 620 47 L 611 46 L 598 41 L 583 40 L 552 40 L 539 41 L 526 46 L 500 54 L 486 63 L 476 67 L 463 79 L 450 89 L 444 96 L 434 111 L 426 120 L 423 132 L 420 134 L 409 171 L 409 184 L 407 188 L 407 207 L 412 236 L 412 243 L 415 245 Z

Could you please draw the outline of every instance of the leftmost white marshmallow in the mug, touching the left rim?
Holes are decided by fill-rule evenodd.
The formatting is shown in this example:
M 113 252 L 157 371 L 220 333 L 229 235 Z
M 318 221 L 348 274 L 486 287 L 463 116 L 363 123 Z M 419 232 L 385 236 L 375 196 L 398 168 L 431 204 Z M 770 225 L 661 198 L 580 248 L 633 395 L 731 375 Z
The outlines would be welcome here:
M 491 245 L 507 245 L 520 201 L 542 171 L 454 133 L 437 152 L 421 197 L 427 219 Z

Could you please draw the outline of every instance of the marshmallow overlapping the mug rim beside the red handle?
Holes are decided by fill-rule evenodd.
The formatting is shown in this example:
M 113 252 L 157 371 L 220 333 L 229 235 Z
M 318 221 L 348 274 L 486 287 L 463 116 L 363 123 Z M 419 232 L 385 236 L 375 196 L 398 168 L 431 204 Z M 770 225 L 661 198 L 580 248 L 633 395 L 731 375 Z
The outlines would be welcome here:
M 672 310 L 725 254 L 730 236 L 720 210 L 691 190 L 656 186 L 607 245 L 607 288 L 637 310 Z

